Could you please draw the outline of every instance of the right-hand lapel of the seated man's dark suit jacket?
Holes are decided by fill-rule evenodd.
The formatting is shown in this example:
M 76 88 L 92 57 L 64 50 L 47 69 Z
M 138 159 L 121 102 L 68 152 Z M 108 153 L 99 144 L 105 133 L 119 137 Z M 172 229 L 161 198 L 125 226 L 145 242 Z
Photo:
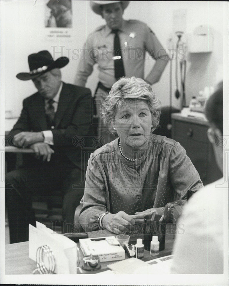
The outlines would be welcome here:
M 57 108 L 56 116 L 55 116 L 55 127 L 56 128 L 58 127 L 66 108 L 70 104 L 70 101 L 71 101 L 70 91 L 68 87 L 66 86 L 66 84 L 63 82 L 63 86 L 60 92 L 60 98 L 58 102 L 58 108 Z

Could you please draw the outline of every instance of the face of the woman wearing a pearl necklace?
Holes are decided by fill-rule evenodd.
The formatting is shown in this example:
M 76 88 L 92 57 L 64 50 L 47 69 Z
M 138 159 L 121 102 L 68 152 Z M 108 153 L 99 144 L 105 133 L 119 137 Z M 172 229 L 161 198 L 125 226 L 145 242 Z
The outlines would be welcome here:
M 141 147 L 151 133 L 152 115 L 146 100 L 128 99 L 117 110 L 113 128 L 121 144 L 129 147 Z

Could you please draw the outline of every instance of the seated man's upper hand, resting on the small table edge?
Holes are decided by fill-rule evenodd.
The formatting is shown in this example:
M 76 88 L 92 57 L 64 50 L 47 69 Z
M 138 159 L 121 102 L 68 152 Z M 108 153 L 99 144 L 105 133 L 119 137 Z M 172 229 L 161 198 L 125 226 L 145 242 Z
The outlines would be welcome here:
M 20 132 L 13 137 L 14 145 L 26 148 L 36 142 L 44 142 L 42 132 Z

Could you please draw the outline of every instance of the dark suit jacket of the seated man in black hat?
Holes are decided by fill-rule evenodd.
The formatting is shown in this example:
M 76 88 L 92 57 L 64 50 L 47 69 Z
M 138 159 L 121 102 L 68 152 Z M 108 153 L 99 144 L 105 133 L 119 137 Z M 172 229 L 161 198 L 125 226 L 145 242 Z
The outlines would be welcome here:
M 14 136 L 22 131 L 43 130 L 48 130 L 44 98 L 36 92 L 24 99 L 20 118 L 9 135 Z M 51 148 L 55 151 L 52 157 L 57 154 L 62 158 L 66 156 L 76 166 L 86 169 L 87 158 L 95 149 L 91 143 L 94 128 L 91 125 L 91 91 L 89 89 L 63 82 L 52 134 L 54 145 Z

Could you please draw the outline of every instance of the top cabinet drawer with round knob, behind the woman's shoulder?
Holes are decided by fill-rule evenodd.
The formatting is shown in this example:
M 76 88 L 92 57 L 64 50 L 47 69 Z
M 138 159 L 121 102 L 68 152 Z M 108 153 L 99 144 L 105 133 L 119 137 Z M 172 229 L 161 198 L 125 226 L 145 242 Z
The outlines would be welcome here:
M 179 136 L 184 139 L 192 139 L 195 141 L 208 143 L 207 130 L 208 126 L 177 120 L 173 121 L 174 136 Z

